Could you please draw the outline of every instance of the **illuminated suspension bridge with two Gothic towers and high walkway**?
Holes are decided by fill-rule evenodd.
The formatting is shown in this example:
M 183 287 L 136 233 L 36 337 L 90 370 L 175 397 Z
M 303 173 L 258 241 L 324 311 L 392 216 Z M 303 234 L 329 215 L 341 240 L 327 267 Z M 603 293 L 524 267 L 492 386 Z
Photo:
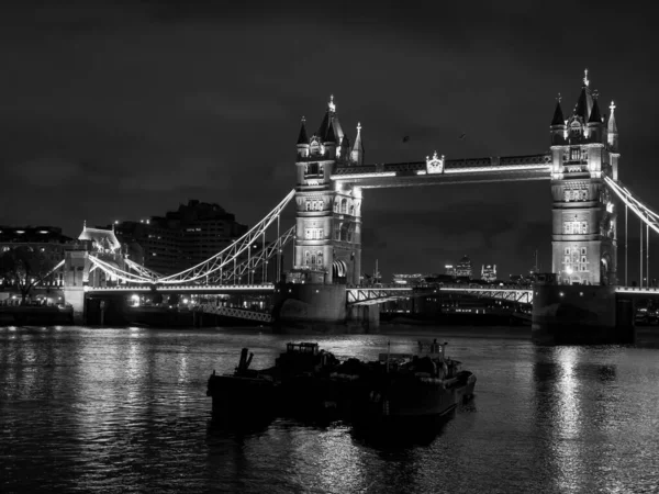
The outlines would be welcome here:
M 297 141 L 294 189 L 243 237 L 210 259 L 169 276 L 159 276 L 134 262 L 118 259 L 116 252 L 103 247 L 111 249 L 112 242 L 97 243 L 97 247 L 88 254 L 69 256 L 65 266 L 68 299 L 80 299 L 83 296 L 80 293 L 135 290 L 129 289 L 129 285 L 144 287 L 137 289 L 142 291 L 152 290 L 146 287 L 157 287 L 158 291 L 199 293 L 204 290 L 228 292 L 232 284 L 236 285 L 235 291 L 243 290 L 237 285 L 248 290 L 247 287 L 254 285 L 260 272 L 264 283 L 286 281 L 287 287 L 292 287 L 278 292 L 275 284 L 263 285 L 263 290 L 275 290 L 275 293 L 288 296 L 277 314 L 281 319 L 337 322 L 349 316 L 350 306 L 367 310 L 371 306 L 375 310 L 376 302 L 407 296 L 403 291 L 396 295 L 392 290 L 359 287 L 365 190 L 547 180 L 552 197 L 551 232 L 548 232 L 551 237 L 551 272 L 558 284 L 569 288 L 561 289 L 560 297 L 573 295 L 573 303 L 583 305 L 584 290 L 592 292 L 597 287 L 613 289 L 618 283 L 617 217 L 621 205 L 625 207 L 625 231 L 630 210 L 646 225 L 646 238 L 649 238 L 650 228 L 659 233 L 659 215 L 635 198 L 618 179 L 621 155 L 613 102 L 608 109 L 608 114 L 602 113 L 597 92 L 591 89 L 585 71 L 577 104 L 567 119 L 560 97 L 557 99 L 549 126 L 548 151 L 473 159 L 447 159 L 435 151 L 417 161 L 368 164 L 365 161 L 361 125 L 357 124 L 354 142 L 350 142 L 331 97 L 317 131 L 309 133 L 305 119 L 302 119 Z M 295 224 L 281 234 L 280 215 L 289 203 L 295 207 Z M 272 237 L 275 227 L 276 240 L 267 244 L 267 231 Z M 293 244 L 292 269 L 283 273 L 281 252 L 289 243 Z M 625 235 L 625 259 L 626 252 Z M 269 280 L 266 279 L 267 272 L 270 272 Z M 118 288 L 110 288 L 112 284 Z M 573 285 L 582 288 L 574 291 Z M 524 303 L 534 301 L 534 307 L 539 307 L 538 301 L 546 299 L 541 293 L 538 295 L 536 289 L 487 291 L 480 290 L 480 295 L 473 291 L 473 294 L 512 296 Z M 604 292 L 610 299 L 619 299 L 627 293 L 624 290 L 600 290 L 596 293 Z M 556 296 L 559 296 L 558 293 Z M 604 295 L 597 296 L 602 299 Z M 557 300 L 557 303 L 562 303 Z M 536 312 L 541 313 L 539 308 Z M 538 315 L 538 318 L 541 316 Z M 595 319 L 599 324 L 600 319 Z

